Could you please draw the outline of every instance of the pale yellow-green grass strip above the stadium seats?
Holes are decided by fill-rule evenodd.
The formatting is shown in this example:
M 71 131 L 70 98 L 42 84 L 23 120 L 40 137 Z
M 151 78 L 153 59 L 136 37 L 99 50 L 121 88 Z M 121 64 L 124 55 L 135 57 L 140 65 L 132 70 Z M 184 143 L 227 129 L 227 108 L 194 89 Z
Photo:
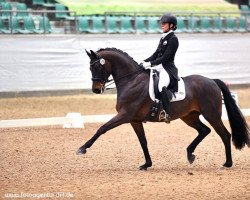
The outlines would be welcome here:
M 166 0 L 58 0 L 77 15 L 104 14 L 105 12 L 237 12 L 236 5 L 225 1 L 167 1 Z

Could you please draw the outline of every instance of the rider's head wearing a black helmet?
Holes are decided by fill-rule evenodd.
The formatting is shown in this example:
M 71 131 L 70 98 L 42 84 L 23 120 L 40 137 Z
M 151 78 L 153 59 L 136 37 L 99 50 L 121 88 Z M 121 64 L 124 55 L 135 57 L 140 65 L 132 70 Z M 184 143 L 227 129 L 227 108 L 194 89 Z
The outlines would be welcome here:
M 170 30 L 175 31 L 177 29 L 177 19 L 174 15 L 165 14 L 160 20 L 163 33 L 167 33 Z

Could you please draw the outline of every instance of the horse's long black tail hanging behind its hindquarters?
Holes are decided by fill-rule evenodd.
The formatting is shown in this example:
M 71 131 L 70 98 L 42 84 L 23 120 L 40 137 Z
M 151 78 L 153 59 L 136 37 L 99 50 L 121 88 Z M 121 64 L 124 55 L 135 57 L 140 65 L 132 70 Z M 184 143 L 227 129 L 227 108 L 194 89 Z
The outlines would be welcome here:
M 236 102 L 233 99 L 231 92 L 229 91 L 226 84 L 219 79 L 214 79 L 214 81 L 221 89 L 224 97 L 224 103 L 227 109 L 227 115 L 232 129 L 232 140 L 235 148 L 242 149 L 245 145 L 250 147 L 249 127 L 243 114 L 241 113 L 239 107 L 236 105 Z

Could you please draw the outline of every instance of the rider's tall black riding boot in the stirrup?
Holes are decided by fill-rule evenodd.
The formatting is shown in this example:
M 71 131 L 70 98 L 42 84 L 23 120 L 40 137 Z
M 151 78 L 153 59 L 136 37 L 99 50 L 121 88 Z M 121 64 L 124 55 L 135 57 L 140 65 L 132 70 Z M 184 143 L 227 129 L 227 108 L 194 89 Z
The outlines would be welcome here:
M 160 120 L 165 121 L 167 123 L 170 123 L 171 121 L 171 117 L 170 117 L 170 100 L 171 99 L 172 99 L 172 92 L 166 87 L 163 87 L 162 92 L 161 92 L 161 100 L 162 100 L 165 113 L 160 114 Z

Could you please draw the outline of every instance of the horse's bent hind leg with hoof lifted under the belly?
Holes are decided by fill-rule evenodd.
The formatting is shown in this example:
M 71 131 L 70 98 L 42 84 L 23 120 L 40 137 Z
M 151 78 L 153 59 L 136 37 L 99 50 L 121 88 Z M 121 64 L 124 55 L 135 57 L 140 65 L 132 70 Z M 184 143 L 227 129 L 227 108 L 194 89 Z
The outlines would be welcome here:
M 181 118 L 187 125 L 196 129 L 198 131 L 198 136 L 193 140 L 193 142 L 187 147 L 187 158 L 190 164 L 195 160 L 194 150 L 198 144 L 211 132 L 211 129 L 203 124 L 199 119 L 200 113 L 192 112 L 188 116 Z

